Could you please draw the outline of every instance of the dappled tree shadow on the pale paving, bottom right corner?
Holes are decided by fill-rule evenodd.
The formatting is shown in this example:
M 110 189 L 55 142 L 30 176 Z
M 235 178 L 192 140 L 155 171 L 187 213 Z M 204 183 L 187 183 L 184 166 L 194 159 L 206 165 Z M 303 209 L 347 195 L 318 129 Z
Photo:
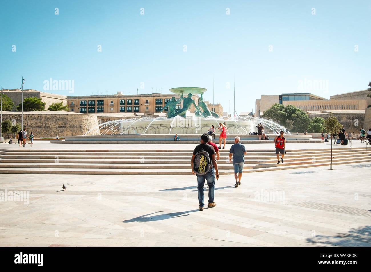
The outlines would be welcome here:
M 307 238 L 306 241 L 331 246 L 365 246 L 364 243 L 368 243 L 371 246 L 371 226 L 351 229 L 347 233 L 338 233 L 336 236 L 318 235 L 313 238 Z

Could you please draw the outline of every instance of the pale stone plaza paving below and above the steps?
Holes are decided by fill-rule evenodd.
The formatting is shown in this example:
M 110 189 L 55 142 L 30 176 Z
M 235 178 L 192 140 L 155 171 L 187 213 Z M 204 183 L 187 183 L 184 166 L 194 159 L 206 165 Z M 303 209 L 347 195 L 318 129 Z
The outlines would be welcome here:
M 43 150 L 164 149 L 37 144 Z M 265 145 L 246 147 L 273 147 Z M 233 175 L 220 176 L 217 206 L 203 211 L 196 176 L 0 174 L 0 192 L 8 196 L 0 195 L 0 245 L 370 246 L 371 163 L 328 168 L 247 173 L 238 188 Z M 29 192 L 29 199 L 12 201 L 20 191 Z

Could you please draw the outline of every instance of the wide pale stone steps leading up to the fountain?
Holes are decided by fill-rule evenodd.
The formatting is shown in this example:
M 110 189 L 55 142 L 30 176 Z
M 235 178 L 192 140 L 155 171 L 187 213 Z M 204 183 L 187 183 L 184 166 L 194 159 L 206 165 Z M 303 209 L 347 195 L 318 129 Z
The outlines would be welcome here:
M 0 173 L 73 175 L 192 175 L 192 150 L 0 150 Z M 330 149 L 286 150 L 277 164 L 274 150 L 248 150 L 244 173 L 328 166 Z M 365 147 L 339 147 L 333 165 L 371 162 Z M 220 150 L 220 175 L 233 174 L 228 150 Z

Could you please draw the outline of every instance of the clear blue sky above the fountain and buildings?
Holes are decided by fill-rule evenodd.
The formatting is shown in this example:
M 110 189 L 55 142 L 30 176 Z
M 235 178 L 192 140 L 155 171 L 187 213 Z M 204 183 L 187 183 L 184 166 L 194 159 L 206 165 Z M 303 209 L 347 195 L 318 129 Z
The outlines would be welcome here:
M 240 113 L 255 111 L 262 94 L 303 92 L 299 80 L 328 80 L 328 89 L 305 91 L 325 98 L 371 81 L 369 0 L 1 1 L 0 18 L 5 89 L 23 76 L 24 89 L 43 91 L 52 77 L 74 80 L 75 92 L 51 93 L 192 86 L 207 88 L 212 102 L 214 74 L 214 102 L 233 112 L 235 74 Z

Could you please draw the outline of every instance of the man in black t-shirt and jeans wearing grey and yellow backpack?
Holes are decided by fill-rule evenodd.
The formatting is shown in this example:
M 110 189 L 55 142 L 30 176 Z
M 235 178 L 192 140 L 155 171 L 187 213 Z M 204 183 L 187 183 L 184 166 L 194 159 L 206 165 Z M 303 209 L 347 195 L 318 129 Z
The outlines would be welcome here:
M 197 176 L 197 190 L 198 190 L 198 210 L 204 210 L 204 185 L 205 179 L 207 185 L 209 185 L 209 208 L 215 207 L 214 202 L 214 187 L 215 177 L 219 179 L 218 165 L 215 159 L 214 147 L 208 145 L 209 135 L 204 133 L 201 135 L 201 144 L 196 146 L 193 150 L 193 156 L 191 159 L 192 174 Z M 215 168 L 215 176 L 214 176 Z

